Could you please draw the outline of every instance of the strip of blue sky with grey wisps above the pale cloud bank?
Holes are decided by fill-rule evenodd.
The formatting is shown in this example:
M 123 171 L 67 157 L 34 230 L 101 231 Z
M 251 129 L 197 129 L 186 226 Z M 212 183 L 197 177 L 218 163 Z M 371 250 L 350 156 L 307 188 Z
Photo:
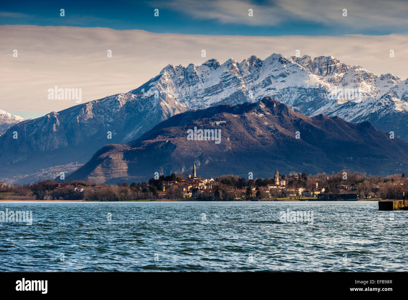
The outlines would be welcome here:
M 401 0 L 2 0 L 0 7 L 0 24 L 244 36 L 408 32 L 408 3 Z

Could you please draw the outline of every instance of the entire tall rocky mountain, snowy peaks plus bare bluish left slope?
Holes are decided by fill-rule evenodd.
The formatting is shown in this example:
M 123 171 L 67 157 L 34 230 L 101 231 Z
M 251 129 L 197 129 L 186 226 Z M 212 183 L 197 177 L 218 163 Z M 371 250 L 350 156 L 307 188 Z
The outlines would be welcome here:
M 37 119 L 14 124 L 0 136 L 0 179 L 71 162 L 85 163 L 106 144 L 140 138 L 188 109 L 256 102 L 266 96 L 306 116 L 323 113 L 349 122 L 370 121 L 408 140 L 408 80 L 377 76 L 332 56 L 265 60 L 251 56 L 220 64 L 167 65 L 145 84 Z M 13 139 L 13 132 L 19 134 Z M 111 138 L 108 138 L 111 132 Z M 13 168 L 7 166 L 13 164 Z M 63 170 L 62 170 L 63 171 Z

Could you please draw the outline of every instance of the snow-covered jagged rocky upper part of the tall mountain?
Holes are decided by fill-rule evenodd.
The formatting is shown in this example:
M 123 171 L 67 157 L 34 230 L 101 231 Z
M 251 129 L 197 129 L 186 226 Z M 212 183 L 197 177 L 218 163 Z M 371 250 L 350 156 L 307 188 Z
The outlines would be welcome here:
M 288 58 L 274 53 L 265 60 L 251 56 L 223 64 L 215 59 L 200 66 L 169 64 L 130 93 L 155 92 L 171 94 L 190 109 L 271 96 L 306 116 L 324 113 L 350 122 L 368 120 L 408 140 L 408 79 L 390 73 L 377 76 L 332 56 Z

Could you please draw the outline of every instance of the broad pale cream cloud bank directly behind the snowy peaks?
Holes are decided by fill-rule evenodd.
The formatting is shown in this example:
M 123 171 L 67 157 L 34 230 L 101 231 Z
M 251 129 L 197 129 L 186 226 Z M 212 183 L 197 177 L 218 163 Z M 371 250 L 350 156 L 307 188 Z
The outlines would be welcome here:
M 75 100 L 48 100 L 47 90 L 82 88 L 87 102 L 127 92 L 156 76 L 167 64 L 202 64 L 271 53 L 312 57 L 332 55 L 377 74 L 408 77 L 408 37 L 328 36 L 206 36 L 150 33 L 109 28 L 0 26 L 0 109 L 50 112 L 75 105 Z M 13 49 L 18 58 L 13 58 Z M 106 51 L 112 50 L 112 58 Z M 206 49 L 206 58 L 201 50 Z M 389 51 L 395 57 L 389 57 Z

